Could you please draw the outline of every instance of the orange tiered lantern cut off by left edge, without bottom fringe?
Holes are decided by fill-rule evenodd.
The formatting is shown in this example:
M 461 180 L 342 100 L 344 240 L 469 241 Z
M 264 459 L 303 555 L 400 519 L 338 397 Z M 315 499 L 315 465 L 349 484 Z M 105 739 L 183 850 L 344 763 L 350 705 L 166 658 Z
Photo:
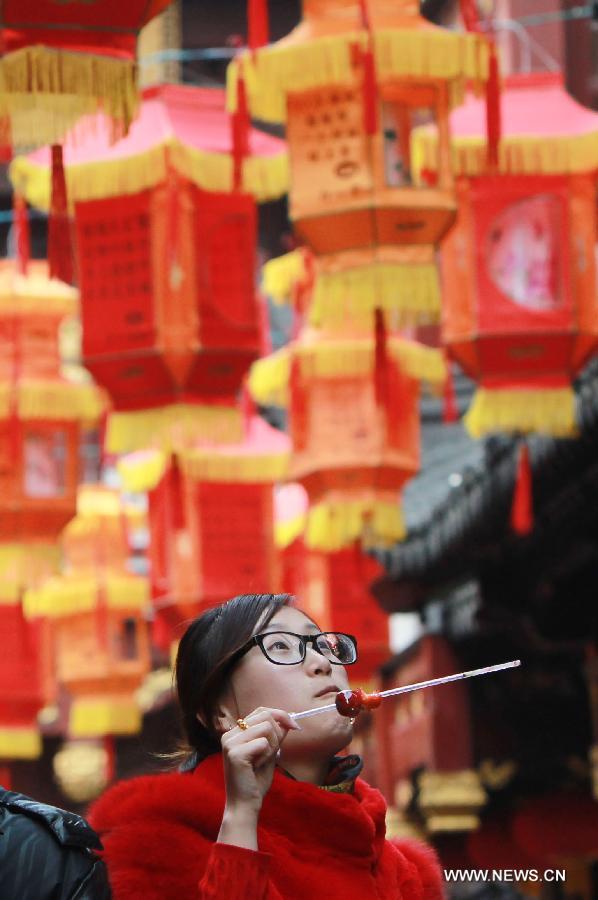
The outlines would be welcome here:
M 77 294 L 0 269 L 0 532 L 12 540 L 55 538 L 74 515 L 81 422 L 102 409 L 91 385 L 60 373 L 58 330 Z

